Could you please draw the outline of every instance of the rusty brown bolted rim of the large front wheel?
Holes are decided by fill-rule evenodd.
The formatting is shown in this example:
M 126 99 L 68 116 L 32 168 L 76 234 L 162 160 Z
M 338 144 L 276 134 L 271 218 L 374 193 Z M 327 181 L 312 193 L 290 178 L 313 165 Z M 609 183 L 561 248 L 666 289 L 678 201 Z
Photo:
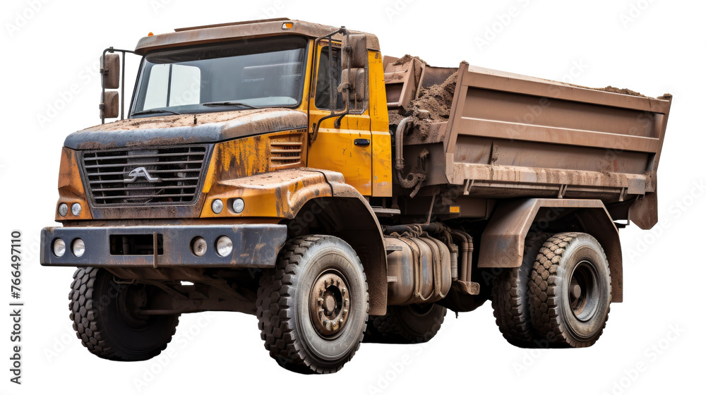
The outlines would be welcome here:
M 319 275 L 309 296 L 311 321 L 319 336 L 335 339 L 343 332 L 350 303 L 349 287 L 340 272 L 329 270 Z

